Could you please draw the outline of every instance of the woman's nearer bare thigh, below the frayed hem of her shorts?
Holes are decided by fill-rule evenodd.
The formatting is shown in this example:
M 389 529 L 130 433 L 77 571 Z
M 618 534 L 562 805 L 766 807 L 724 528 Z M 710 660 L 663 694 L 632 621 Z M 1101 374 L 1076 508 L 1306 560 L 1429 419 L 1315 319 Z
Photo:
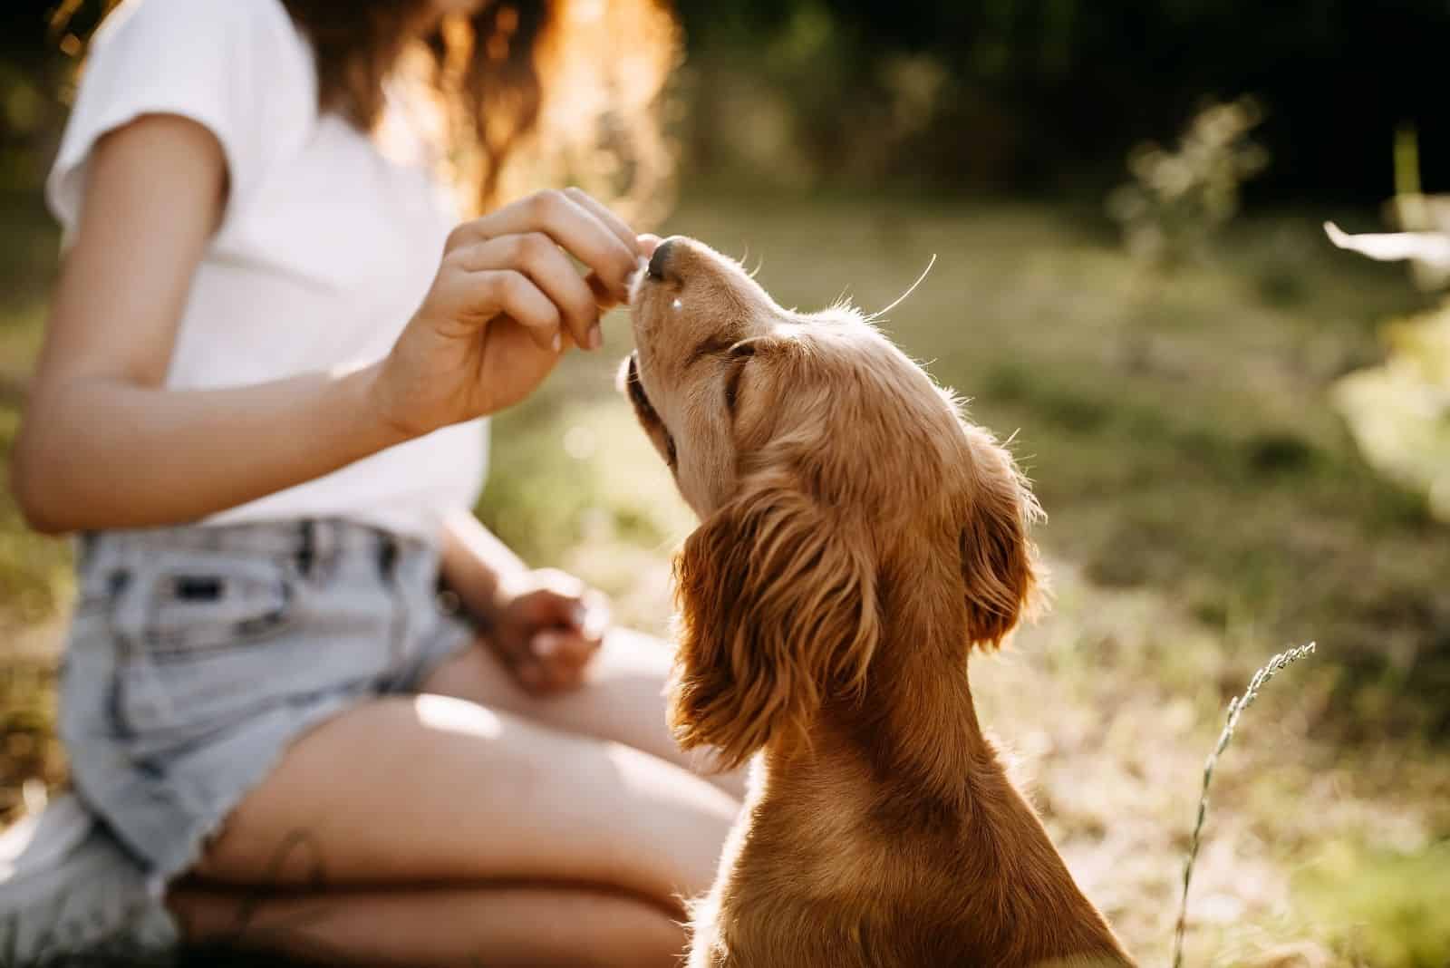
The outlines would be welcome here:
M 325 722 L 196 872 L 229 884 L 581 883 L 670 911 L 706 890 L 738 803 L 641 749 L 444 696 Z

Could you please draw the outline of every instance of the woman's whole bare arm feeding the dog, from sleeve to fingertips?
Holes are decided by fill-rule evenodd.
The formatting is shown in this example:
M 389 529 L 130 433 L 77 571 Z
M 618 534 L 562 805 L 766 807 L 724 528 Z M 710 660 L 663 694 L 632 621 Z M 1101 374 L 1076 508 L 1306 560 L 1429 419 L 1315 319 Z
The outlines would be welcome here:
M 579 197 L 542 193 L 454 233 L 434 288 L 378 364 L 164 390 L 225 200 L 220 145 L 194 122 L 148 116 L 94 149 L 13 461 L 36 529 L 196 520 L 508 406 L 561 345 L 596 342 L 594 293 L 558 246 L 608 280 L 602 291 L 621 291 L 638 255 L 626 229 Z

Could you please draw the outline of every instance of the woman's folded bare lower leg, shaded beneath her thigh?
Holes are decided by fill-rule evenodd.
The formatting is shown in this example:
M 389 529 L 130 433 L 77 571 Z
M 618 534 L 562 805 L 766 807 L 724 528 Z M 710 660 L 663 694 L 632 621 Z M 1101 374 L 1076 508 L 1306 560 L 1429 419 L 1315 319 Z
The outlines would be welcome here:
M 684 929 L 657 907 L 574 887 L 339 891 L 257 903 L 183 888 L 171 907 L 191 943 L 338 965 L 664 968 L 680 964 L 686 945 Z

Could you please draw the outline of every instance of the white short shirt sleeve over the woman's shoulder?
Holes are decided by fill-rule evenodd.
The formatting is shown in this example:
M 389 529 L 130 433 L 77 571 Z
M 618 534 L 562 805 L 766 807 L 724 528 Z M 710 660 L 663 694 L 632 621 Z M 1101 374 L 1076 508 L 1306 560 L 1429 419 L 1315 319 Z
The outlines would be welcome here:
M 96 142 L 146 114 L 175 114 L 220 143 L 232 212 L 306 138 L 315 101 L 310 57 L 280 3 L 126 0 L 91 41 L 46 200 L 74 232 Z

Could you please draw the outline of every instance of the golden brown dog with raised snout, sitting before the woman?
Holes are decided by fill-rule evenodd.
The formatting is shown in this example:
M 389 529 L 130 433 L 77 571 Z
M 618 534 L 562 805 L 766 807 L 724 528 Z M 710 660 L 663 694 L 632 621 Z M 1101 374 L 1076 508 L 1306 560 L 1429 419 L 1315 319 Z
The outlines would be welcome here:
M 700 527 L 670 716 L 760 754 L 692 968 L 1130 964 L 967 685 L 1035 584 L 1011 456 L 850 310 L 786 312 L 671 239 L 625 388 Z

